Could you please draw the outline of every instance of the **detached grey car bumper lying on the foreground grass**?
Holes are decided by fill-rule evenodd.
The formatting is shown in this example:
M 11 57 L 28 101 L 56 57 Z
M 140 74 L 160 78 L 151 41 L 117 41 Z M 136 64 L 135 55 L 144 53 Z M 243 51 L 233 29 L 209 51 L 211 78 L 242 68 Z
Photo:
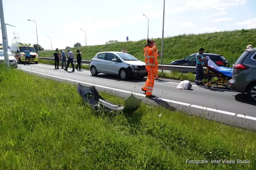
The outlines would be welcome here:
M 77 86 L 77 92 L 85 100 L 86 104 L 96 111 L 123 111 L 135 112 L 141 105 L 142 98 L 136 98 L 131 94 L 124 100 L 124 106 L 117 105 L 103 99 L 96 90 L 95 86 L 86 87 L 81 84 Z

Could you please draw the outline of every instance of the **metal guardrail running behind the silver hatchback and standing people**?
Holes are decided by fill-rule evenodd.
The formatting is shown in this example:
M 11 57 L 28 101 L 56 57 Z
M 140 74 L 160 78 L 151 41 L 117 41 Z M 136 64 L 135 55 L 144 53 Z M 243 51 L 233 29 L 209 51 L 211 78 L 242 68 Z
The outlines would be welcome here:
M 54 61 L 54 58 L 51 57 L 38 57 L 40 60 L 50 60 Z M 59 60 L 62 61 L 61 59 Z M 68 59 L 66 59 L 66 62 Z M 73 61 L 77 63 L 76 60 Z M 81 64 L 90 64 L 90 60 L 82 60 Z M 206 69 L 206 67 L 204 67 Z M 196 72 L 196 67 L 194 66 L 175 66 L 175 65 L 168 65 L 168 64 L 158 64 L 158 70 L 170 70 L 170 71 L 184 71 L 184 72 Z

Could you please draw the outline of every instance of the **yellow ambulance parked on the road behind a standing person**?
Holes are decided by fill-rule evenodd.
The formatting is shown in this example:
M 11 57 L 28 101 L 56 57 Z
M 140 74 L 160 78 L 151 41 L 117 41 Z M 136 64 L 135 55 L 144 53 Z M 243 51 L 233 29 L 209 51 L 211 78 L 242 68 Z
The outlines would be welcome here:
M 34 62 L 38 64 L 38 55 L 37 51 L 35 51 L 33 45 L 25 44 L 25 43 L 13 43 L 11 47 L 11 52 L 14 54 L 15 58 L 19 62 L 19 64 L 25 62 L 25 50 L 28 48 L 30 51 L 30 62 Z

